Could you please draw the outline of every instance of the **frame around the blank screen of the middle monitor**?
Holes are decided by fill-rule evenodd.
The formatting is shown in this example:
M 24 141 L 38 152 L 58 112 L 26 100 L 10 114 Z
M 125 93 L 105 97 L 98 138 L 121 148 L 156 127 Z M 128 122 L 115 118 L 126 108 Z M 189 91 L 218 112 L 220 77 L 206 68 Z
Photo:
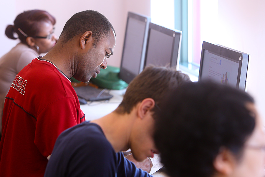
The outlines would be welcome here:
M 182 40 L 182 31 L 172 30 L 172 29 L 160 26 L 160 25 L 152 23 L 152 22 L 149 24 L 144 67 L 146 66 L 147 57 L 148 57 L 148 46 L 149 46 L 150 31 L 151 30 L 156 30 L 156 31 L 161 32 L 165 35 L 173 36 L 174 39 L 173 39 L 172 50 L 171 50 L 171 55 L 170 55 L 171 58 L 170 58 L 169 67 L 175 68 L 176 70 L 178 70 L 179 69 L 179 60 L 180 60 L 180 47 L 181 47 L 181 40 Z

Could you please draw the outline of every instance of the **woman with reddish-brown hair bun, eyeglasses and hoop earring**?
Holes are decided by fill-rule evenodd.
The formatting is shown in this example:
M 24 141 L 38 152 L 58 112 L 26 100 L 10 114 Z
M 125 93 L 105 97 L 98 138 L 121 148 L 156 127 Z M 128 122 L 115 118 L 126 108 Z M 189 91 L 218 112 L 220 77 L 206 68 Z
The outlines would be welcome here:
M 22 68 L 56 44 L 55 22 L 55 18 L 46 11 L 29 10 L 19 14 L 14 25 L 6 27 L 6 36 L 20 42 L 0 58 L 0 130 L 4 100 L 11 83 Z

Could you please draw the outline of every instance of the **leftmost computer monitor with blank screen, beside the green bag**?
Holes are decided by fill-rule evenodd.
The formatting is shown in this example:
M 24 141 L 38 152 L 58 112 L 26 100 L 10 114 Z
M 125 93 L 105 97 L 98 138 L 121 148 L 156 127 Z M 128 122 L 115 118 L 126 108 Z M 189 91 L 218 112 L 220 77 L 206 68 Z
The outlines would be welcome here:
M 119 77 L 130 83 L 144 67 L 150 17 L 128 12 Z

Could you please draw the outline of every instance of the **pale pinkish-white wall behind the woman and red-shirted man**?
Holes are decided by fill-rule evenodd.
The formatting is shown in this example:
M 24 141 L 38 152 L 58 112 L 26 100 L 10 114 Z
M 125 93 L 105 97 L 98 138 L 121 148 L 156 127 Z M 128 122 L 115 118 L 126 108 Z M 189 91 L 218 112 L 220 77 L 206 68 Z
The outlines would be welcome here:
M 59 37 L 65 22 L 77 12 L 83 10 L 96 10 L 104 14 L 112 23 L 117 35 L 114 55 L 108 60 L 108 64 L 119 67 L 122 56 L 127 12 L 132 11 L 150 16 L 150 0 L 1 0 L 0 57 L 19 42 L 18 40 L 8 39 L 4 35 L 6 26 L 8 24 L 13 24 L 15 17 L 19 13 L 31 9 L 46 10 L 56 18 L 55 34 L 57 37 Z

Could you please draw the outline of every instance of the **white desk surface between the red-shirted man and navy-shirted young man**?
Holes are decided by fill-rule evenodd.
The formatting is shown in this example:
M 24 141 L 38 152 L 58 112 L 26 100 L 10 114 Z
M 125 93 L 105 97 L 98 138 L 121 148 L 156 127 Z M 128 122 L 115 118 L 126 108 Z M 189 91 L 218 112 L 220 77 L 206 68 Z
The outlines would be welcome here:
M 113 97 L 107 101 L 93 101 L 87 104 L 80 105 L 80 108 L 85 113 L 86 120 L 94 120 L 103 117 L 114 111 L 122 101 L 126 89 L 110 90 Z M 155 164 L 155 163 L 153 163 Z M 154 177 L 167 177 L 163 168 L 152 174 Z

